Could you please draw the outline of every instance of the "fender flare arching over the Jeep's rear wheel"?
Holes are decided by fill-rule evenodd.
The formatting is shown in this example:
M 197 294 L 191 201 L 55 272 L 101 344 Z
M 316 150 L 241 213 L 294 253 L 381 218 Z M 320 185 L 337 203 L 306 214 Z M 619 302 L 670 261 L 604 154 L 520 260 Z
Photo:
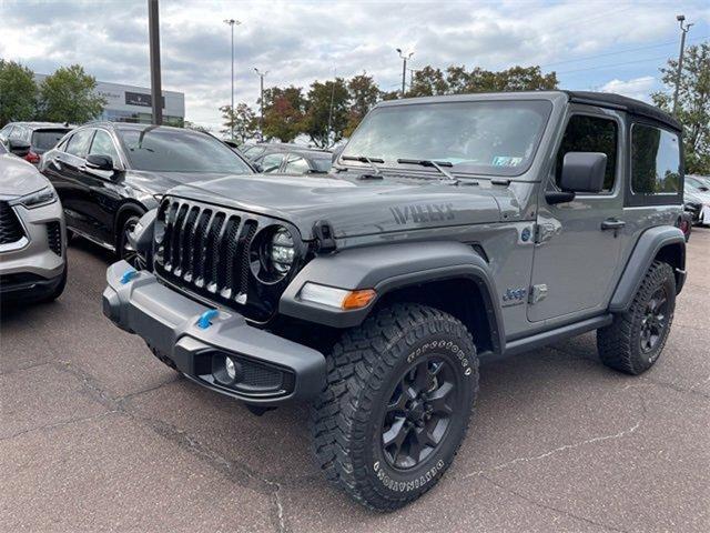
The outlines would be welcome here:
M 633 247 L 611 296 L 609 311 L 621 313 L 629 309 L 649 266 L 659 252 L 669 245 L 678 245 L 681 249 L 678 264 L 672 265 L 676 269 L 677 292 L 680 292 L 686 279 L 686 237 L 680 228 L 672 225 L 650 228 L 641 234 Z

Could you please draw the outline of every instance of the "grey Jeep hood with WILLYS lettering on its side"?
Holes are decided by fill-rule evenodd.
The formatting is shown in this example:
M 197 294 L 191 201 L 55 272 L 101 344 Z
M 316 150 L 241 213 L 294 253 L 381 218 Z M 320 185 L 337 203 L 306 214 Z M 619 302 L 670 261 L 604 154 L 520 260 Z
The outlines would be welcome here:
M 288 221 L 305 240 L 320 220 L 338 239 L 500 220 L 490 189 L 436 179 L 250 174 L 193 182 L 169 194 Z

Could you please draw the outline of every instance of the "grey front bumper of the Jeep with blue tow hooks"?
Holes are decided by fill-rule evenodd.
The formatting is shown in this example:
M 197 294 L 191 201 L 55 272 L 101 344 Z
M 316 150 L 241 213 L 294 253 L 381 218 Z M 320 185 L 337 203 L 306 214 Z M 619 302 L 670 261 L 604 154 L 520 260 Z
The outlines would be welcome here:
M 125 261 L 109 266 L 103 313 L 194 382 L 263 406 L 310 400 L 323 390 L 321 352 L 248 325 L 233 311 L 219 310 L 202 328 L 200 318 L 210 308 L 163 285 L 151 272 L 126 279 L 130 270 Z M 235 380 L 225 378 L 226 356 L 237 363 Z

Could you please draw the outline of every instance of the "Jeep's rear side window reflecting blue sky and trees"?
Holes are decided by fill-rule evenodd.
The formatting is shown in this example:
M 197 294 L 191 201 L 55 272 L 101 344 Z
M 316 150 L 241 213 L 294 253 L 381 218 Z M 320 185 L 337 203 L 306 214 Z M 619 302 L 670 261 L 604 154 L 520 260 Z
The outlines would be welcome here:
M 677 194 L 680 191 L 680 140 L 647 124 L 631 128 L 631 191 Z

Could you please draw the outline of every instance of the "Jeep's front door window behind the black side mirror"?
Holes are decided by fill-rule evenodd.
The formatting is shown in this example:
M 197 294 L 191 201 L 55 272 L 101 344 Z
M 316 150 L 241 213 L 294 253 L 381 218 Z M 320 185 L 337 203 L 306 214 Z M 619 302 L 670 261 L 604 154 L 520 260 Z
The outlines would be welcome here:
M 562 175 L 562 160 L 567 152 L 601 152 L 607 154 L 604 192 L 613 189 L 617 170 L 618 131 L 611 119 L 575 114 L 569 119 L 562 143 L 557 152 L 555 181 L 559 187 Z

